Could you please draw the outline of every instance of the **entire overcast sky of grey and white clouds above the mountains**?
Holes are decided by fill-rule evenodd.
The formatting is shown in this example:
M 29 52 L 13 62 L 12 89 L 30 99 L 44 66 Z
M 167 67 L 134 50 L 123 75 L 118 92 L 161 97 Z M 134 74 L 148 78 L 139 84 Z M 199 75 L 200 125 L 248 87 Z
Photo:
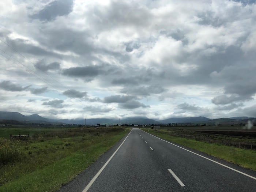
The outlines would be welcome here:
M 0 111 L 256 117 L 251 0 L 0 1 Z

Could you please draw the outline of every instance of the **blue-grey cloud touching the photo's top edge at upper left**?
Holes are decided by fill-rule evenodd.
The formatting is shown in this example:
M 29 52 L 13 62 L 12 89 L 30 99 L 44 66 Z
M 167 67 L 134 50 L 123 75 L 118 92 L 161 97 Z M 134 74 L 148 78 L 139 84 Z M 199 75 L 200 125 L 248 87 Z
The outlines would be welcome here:
M 37 14 L 30 15 L 30 18 L 50 21 L 57 16 L 68 15 L 72 11 L 72 8 L 73 0 L 56 0 L 47 4 Z

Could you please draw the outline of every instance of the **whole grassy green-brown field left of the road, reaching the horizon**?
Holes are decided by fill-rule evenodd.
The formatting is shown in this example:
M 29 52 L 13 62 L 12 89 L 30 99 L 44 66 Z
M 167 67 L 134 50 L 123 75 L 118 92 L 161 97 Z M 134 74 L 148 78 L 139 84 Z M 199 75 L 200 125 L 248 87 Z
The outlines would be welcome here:
M 29 140 L 10 139 L 10 134 Z M 0 129 L 0 191 L 57 191 L 123 138 L 125 128 Z

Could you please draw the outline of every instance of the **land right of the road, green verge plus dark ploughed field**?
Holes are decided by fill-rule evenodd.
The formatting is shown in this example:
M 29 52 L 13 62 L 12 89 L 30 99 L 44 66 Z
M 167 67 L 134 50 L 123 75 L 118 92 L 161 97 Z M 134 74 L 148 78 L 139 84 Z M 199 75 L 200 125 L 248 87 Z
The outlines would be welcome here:
M 256 129 L 254 127 L 250 130 L 233 126 L 161 127 L 159 130 L 148 127 L 142 130 L 170 142 L 256 170 Z

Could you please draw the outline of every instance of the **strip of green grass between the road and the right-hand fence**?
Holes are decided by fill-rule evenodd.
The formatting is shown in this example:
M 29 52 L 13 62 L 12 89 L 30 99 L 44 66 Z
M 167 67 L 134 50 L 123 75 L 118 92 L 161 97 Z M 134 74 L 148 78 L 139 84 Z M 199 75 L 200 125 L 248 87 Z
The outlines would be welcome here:
M 206 143 L 187 138 L 175 137 L 164 132 L 156 132 L 152 129 L 143 130 L 170 142 L 175 142 L 181 144 L 182 146 L 202 151 L 203 153 L 256 171 L 256 151 L 254 150 L 245 150 L 220 144 Z

